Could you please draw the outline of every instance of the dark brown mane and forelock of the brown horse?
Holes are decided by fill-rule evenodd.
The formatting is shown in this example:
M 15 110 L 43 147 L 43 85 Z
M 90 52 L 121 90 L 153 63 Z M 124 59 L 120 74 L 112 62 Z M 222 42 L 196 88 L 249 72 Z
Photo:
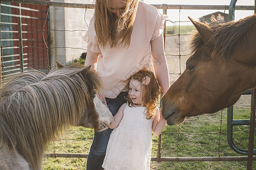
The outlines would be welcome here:
M 212 16 L 212 20 L 215 18 Z M 211 40 L 207 45 L 213 45 L 213 53 L 220 54 L 226 59 L 229 58 L 233 46 L 236 42 L 239 42 L 242 47 L 246 46 L 246 38 L 250 31 L 251 25 L 256 24 L 256 15 L 247 16 L 244 19 L 240 19 L 237 22 L 228 23 L 213 23 L 209 24 L 214 31 Z M 194 31 L 191 35 L 190 46 L 192 53 L 196 52 L 204 44 L 202 37 L 198 31 Z

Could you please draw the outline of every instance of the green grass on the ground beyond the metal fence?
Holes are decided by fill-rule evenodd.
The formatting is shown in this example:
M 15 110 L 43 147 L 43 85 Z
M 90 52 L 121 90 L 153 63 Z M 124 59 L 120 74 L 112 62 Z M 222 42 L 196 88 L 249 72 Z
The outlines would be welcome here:
M 250 119 L 250 109 L 238 108 L 235 112 L 235 119 Z M 237 154 L 228 145 L 226 109 L 222 112 L 221 129 L 219 121 L 221 112 L 195 118 L 190 118 L 181 125 L 166 125 L 162 134 L 161 156 L 246 156 Z M 91 129 L 72 127 L 72 130 L 65 131 L 61 136 L 62 139 L 67 140 L 54 141 L 46 152 L 88 154 L 93 134 Z M 238 147 L 247 149 L 248 137 L 249 126 L 234 126 L 233 138 Z M 157 144 L 158 137 L 153 135 L 152 156 L 157 156 Z M 86 169 L 86 161 L 86 158 L 45 158 L 43 169 Z M 151 162 L 151 167 L 151 169 L 246 169 L 247 162 Z M 253 169 L 256 169 L 254 162 Z

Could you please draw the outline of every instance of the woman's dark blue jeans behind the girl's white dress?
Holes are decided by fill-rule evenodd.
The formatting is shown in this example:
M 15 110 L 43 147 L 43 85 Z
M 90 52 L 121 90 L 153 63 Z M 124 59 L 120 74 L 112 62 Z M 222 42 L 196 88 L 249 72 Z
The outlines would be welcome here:
M 122 104 L 126 103 L 125 97 L 127 92 L 121 92 L 115 99 L 110 99 L 106 97 L 107 106 L 113 116 L 116 114 L 118 109 Z M 110 139 L 110 134 L 112 129 L 108 128 L 104 131 L 95 131 L 93 145 L 91 145 L 89 156 L 87 158 L 87 170 L 98 170 L 103 169 L 102 164 L 106 155 L 108 139 Z

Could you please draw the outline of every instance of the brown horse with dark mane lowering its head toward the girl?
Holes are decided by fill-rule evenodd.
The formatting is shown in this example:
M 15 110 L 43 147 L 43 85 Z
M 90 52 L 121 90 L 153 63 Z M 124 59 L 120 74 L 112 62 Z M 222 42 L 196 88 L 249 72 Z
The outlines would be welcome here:
M 192 56 L 161 99 L 168 125 L 230 107 L 256 87 L 256 15 L 211 26 L 190 20 L 197 29 Z

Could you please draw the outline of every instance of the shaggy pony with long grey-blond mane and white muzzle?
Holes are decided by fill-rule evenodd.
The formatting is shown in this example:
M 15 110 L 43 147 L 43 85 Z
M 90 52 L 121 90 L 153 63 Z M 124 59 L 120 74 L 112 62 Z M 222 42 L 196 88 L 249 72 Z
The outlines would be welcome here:
M 99 116 L 93 99 L 101 84 L 79 65 L 13 76 L 0 88 L 0 169 L 41 169 L 45 148 L 61 129 L 106 129 L 112 114 Z

